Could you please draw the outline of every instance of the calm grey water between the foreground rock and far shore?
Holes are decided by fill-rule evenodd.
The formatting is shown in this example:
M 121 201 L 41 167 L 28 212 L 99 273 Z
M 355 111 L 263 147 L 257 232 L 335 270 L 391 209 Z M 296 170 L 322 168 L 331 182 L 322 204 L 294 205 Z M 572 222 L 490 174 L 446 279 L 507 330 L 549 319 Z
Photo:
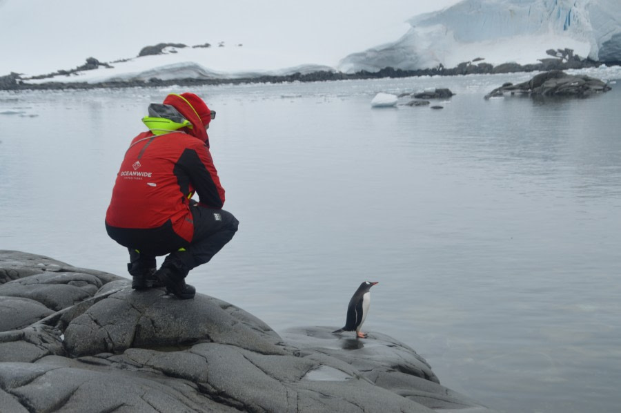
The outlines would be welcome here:
M 365 329 L 442 384 L 502 412 L 618 412 L 621 86 L 483 99 L 530 77 L 193 89 L 241 224 L 190 283 L 279 331 L 342 327 L 379 281 Z M 370 106 L 430 87 L 457 95 Z M 146 106 L 184 90 L 0 93 L 0 249 L 126 276 L 103 227 L 115 174 Z

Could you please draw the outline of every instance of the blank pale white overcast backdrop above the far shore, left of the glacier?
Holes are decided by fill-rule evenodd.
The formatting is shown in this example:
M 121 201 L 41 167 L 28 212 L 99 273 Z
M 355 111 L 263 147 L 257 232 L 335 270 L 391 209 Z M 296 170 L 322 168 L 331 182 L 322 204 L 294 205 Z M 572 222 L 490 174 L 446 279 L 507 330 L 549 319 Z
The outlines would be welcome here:
M 0 75 L 135 57 L 159 42 L 224 41 L 335 61 L 394 41 L 404 21 L 459 0 L 0 0 Z M 323 59 L 325 60 L 325 59 Z M 46 65 L 43 65 L 46 63 Z

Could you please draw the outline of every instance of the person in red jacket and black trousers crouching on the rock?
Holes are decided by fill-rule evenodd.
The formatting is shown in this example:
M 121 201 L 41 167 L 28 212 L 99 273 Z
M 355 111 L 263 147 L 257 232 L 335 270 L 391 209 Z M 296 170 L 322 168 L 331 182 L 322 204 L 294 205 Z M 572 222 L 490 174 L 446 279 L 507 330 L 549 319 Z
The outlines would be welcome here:
M 222 209 L 224 189 L 209 151 L 215 111 L 193 93 L 173 93 L 148 114 L 149 131 L 132 140 L 117 174 L 106 231 L 128 248 L 133 289 L 166 287 L 193 298 L 188 272 L 224 247 L 239 224 Z M 159 269 L 157 256 L 166 256 Z

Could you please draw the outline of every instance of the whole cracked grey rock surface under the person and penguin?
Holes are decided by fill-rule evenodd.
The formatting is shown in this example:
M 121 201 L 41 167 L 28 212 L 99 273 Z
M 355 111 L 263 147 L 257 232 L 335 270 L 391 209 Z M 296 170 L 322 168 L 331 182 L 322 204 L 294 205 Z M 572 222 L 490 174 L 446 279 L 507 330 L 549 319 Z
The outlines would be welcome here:
M 1 412 L 491 412 L 416 352 L 0 251 Z

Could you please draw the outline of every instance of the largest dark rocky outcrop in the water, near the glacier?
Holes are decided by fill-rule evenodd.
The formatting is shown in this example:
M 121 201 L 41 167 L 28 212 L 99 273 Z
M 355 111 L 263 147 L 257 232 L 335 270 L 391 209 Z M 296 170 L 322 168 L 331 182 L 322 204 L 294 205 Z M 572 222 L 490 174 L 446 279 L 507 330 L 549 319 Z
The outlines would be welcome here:
M 533 97 L 587 97 L 608 90 L 611 90 L 611 87 L 600 79 L 586 75 L 568 75 L 561 70 L 551 70 L 520 84 L 506 83 L 485 95 L 485 99 L 504 96 L 505 93 Z

